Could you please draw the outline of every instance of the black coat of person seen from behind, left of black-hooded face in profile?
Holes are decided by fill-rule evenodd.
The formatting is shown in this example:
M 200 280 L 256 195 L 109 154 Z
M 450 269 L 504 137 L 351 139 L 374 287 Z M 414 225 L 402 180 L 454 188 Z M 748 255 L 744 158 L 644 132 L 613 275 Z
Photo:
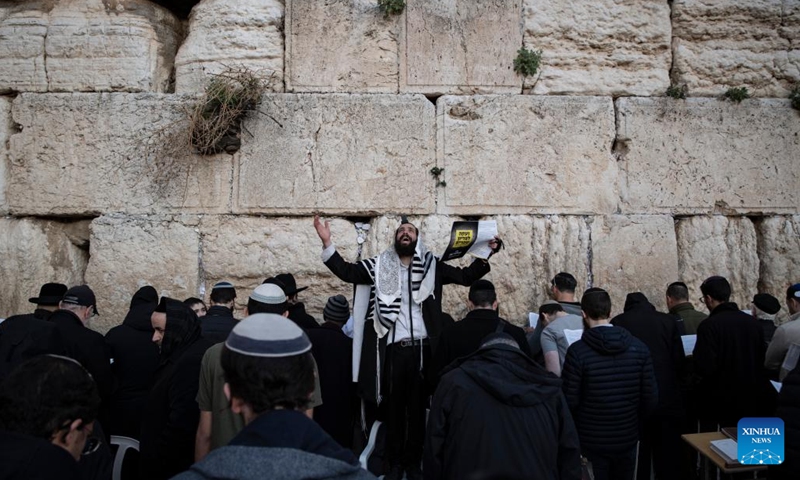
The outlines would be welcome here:
M 122 325 L 106 334 L 114 375 L 115 389 L 111 398 L 108 432 L 140 438 L 142 410 L 153 386 L 158 368 L 158 345 L 153 343 L 150 316 L 155 304 L 137 305 L 128 312 Z

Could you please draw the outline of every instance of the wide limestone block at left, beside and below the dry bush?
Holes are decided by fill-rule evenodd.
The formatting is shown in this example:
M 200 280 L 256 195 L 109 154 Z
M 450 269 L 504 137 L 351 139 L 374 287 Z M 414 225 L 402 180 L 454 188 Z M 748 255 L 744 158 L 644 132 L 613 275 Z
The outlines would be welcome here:
M 232 158 L 176 153 L 176 139 L 159 134 L 186 127 L 191 101 L 158 94 L 20 95 L 12 106 L 21 132 L 11 136 L 11 211 L 229 211 Z

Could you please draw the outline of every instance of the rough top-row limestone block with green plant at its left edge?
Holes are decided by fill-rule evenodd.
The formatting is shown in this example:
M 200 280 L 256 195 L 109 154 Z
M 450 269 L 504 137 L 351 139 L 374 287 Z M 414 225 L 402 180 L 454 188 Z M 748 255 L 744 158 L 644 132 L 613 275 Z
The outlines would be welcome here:
M 542 51 L 536 94 L 662 95 L 669 86 L 670 7 L 663 1 L 525 0 L 525 47 Z

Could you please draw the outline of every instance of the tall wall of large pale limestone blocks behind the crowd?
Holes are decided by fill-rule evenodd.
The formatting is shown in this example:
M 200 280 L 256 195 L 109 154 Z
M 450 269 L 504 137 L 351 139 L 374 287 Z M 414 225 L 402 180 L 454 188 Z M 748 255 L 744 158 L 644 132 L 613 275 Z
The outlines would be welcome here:
M 800 3 L 0 0 L 0 317 L 42 283 L 86 282 L 106 331 L 151 284 L 229 280 L 243 306 L 290 271 L 308 310 L 352 293 L 312 217 L 362 258 L 401 214 L 441 253 L 453 221 L 496 220 L 501 313 L 524 323 L 560 271 L 619 312 L 708 276 L 734 300 L 800 281 Z M 533 77 L 513 70 L 542 51 Z M 241 149 L 170 148 L 211 75 L 269 85 Z M 664 96 L 686 85 L 689 98 Z M 755 98 L 718 96 L 746 86 Z M 176 137 L 177 136 L 177 137 Z M 438 178 L 431 169 L 443 169 Z M 454 262 L 466 265 L 467 260 Z M 448 287 L 445 310 L 465 312 Z M 695 303 L 696 300 L 694 301 Z

